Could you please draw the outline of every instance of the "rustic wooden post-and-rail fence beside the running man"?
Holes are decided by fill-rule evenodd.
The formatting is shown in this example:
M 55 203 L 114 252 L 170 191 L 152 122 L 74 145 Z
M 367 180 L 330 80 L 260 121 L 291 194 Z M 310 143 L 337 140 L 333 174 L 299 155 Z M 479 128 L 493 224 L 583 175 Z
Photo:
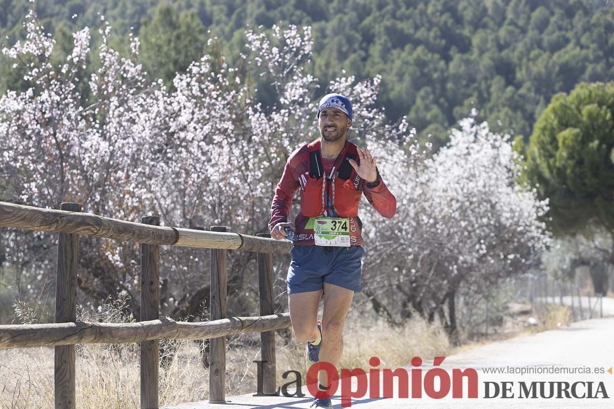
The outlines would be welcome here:
M 211 339 L 209 350 L 209 402 L 225 401 L 225 336 L 260 332 L 263 392 L 276 392 L 275 332 L 290 327 L 287 313 L 273 314 L 273 253 L 290 253 L 290 242 L 268 234 L 258 237 L 227 232 L 159 226 L 156 216 L 141 223 L 82 213 L 78 203 L 63 203 L 60 210 L 0 202 L 0 227 L 57 232 L 58 262 L 55 324 L 0 325 L 0 349 L 55 346 L 55 407 L 75 408 L 75 344 L 141 343 L 141 408 L 158 408 L 158 340 L 160 338 Z M 141 322 L 131 324 L 76 321 L 79 236 L 140 243 Z M 160 319 L 160 245 L 211 249 L 211 317 L 203 323 Z M 260 316 L 226 316 L 227 250 L 258 253 Z M 258 368 L 260 371 L 260 367 Z

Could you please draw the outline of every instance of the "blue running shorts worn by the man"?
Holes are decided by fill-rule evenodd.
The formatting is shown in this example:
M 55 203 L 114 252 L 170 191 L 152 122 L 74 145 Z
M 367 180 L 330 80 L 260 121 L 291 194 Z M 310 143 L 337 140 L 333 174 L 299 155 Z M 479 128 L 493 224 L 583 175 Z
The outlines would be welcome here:
M 362 246 L 294 246 L 286 278 L 288 294 L 317 291 L 324 283 L 362 291 Z

